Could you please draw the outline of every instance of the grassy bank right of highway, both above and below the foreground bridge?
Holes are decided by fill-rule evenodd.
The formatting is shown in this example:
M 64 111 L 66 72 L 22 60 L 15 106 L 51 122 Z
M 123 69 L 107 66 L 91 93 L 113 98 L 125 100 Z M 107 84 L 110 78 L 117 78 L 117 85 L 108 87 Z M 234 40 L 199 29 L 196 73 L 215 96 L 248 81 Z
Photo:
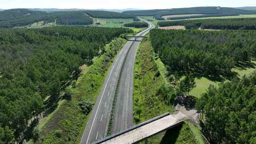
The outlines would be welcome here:
M 166 90 L 170 89 L 166 75 L 165 65 L 160 59 L 155 60 L 150 41 L 144 39 L 137 51 L 135 62 L 133 107 L 136 124 L 173 110 L 172 104 L 168 103 L 168 100 L 166 101 L 169 97 L 166 95 Z M 201 143 L 202 137 L 199 128 L 190 125 L 191 123 L 184 123 L 155 135 L 148 139 L 148 143 L 204 144 Z

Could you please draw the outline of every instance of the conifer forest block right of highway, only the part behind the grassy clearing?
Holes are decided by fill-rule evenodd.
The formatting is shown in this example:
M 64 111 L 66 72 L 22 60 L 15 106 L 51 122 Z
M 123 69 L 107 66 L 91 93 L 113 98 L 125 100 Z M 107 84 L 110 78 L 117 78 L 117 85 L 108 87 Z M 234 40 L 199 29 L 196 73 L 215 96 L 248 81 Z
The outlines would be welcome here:
M 153 29 L 150 40 L 170 72 L 230 77 L 232 68 L 256 57 L 255 31 Z

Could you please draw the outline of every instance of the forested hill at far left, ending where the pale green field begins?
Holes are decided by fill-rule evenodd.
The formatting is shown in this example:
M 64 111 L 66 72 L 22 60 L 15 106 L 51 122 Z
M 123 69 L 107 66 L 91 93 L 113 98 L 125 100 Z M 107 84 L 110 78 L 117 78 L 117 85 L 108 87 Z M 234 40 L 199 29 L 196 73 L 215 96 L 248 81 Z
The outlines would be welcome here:
M 9 9 L 0 11 L 0 27 L 22 27 L 43 21 L 59 25 L 90 25 L 93 19 L 83 11 L 52 12 L 28 9 Z

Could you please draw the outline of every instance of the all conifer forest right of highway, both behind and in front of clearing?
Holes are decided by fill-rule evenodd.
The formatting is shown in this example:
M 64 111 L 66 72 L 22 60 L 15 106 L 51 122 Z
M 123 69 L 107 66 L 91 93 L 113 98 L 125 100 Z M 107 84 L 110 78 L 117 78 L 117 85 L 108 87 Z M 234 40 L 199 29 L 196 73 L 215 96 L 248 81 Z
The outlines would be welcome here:
M 219 80 L 196 100 L 202 133 L 210 144 L 256 143 L 256 72 L 236 77 L 234 67 L 247 67 L 256 57 L 255 31 L 201 31 L 153 29 L 150 40 L 167 70 L 180 78 L 176 100 L 192 98 L 194 77 Z M 185 89 L 184 89 L 185 88 Z

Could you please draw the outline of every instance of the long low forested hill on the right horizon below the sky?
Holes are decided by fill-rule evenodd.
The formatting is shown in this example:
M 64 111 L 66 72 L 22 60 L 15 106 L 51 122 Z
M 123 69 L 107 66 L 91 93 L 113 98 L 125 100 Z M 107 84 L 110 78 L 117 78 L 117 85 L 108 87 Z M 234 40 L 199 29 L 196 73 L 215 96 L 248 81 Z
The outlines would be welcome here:
M 204 16 L 230 16 L 239 14 L 256 14 L 256 10 L 244 10 L 225 7 L 193 7 L 178 9 L 151 9 L 151 10 L 134 10 L 124 11 L 123 13 L 134 16 L 154 16 L 156 19 L 164 20 L 162 16 L 182 15 L 182 14 L 204 14 Z M 204 17 L 202 16 L 202 17 Z

